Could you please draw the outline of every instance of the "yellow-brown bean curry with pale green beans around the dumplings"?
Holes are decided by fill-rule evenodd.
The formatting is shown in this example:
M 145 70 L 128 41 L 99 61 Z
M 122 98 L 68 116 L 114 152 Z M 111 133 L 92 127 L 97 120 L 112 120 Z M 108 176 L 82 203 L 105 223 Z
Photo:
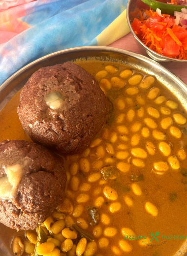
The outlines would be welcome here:
M 162 236 L 187 235 L 187 113 L 154 76 L 119 63 L 76 64 L 95 76 L 111 110 L 82 155 L 63 156 L 65 200 L 41 226 L 55 243 L 46 255 L 173 256 L 185 240 Z M 29 139 L 17 104 L 18 95 L 0 113 L 0 140 Z M 26 232 L 27 255 L 36 238 Z

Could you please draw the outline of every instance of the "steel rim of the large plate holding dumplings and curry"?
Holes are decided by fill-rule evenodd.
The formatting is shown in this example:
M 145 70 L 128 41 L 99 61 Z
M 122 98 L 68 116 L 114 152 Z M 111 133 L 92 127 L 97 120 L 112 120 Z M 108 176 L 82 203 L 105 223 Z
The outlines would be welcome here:
M 39 68 L 61 64 L 67 61 L 75 61 L 77 59 L 113 61 L 115 63 L 122 63 L 131 66 L 140 72 L 143 71 L 147 74 L 154 75 L 164 87 L 168 88 L 168 90 L 175 94 L 187 111 L 187 86 L 174 73 L 142 55 L 122 49 L 97 46 L 77 47 L 62 50 L 44 56 L 23 67 L 0 86 L 0 110 L 2 110 L 12 96 L 14 96 L 26 84 L 31 75 Z M 3 224 L 0 224 L 0 230 L 2 225 Z M 3 233 L 4 237 L 7 235 L 6 232 L 9 232 L 8 227 L 5 227 L 5 229 L 7 231 Z M 3 241 L 0 241 L 0 256 L 13 256 L 11 252 L 7 252 L 2 242 Z M 184 256 L 186 252 L 187 240 L 174 256 Z

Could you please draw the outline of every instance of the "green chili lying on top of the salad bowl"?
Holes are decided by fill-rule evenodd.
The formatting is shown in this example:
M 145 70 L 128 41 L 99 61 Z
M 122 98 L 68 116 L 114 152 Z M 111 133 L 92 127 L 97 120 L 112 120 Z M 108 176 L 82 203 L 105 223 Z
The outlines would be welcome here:
M 169 14 L 169 15 L 173 15 L 174 11 L 181 12 L 182 8 L 187 8 L 187 6 L 184 6 L 184 5 L 172 5 L 168 3 L 158 2 L 155 0 L 142 0 L 142 2 L 147 4 L 149 7 L 151 7 L 155 11 L 158 8 L 161 10 L 161 13 Z

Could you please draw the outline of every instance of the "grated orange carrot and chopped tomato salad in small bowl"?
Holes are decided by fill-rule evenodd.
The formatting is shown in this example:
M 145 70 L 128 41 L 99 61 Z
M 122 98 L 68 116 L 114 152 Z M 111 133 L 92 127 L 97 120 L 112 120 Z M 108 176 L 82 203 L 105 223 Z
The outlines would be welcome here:
M 176 25 L 174 16 L 135 8 L 132 29 L 150 49 L 169 58 L 187 60 L 187 26 Z

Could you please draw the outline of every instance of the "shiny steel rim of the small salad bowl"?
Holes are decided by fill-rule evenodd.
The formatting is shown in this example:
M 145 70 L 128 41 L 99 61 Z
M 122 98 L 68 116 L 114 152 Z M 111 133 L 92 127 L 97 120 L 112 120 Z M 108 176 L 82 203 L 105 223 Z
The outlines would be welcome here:
M 147 47 L 139 38 L 138 36 L 134 33 L 131 23 L 130 23 L 130 12 L 135 9 L 136 6 L 136 0 L 128 0 L 127 7 L 126 7 L 126 18 L 127 18 L 127 23 L 130 28 L 131 33 L 133 34 L 138 46 L 141 48 L 142 53 L 146 54 L 151 57 L 153 60 L 157 62 L 173 62 L 174 66 L 177 64 L 180 64 L 181 66 L 184 66 L 184 64 L 187 63 L 187 60 L 177 60 L 173 58 L 168 58 L 163 55 L 160 55 L 153 50 L 151 50 L 149 47 Z

